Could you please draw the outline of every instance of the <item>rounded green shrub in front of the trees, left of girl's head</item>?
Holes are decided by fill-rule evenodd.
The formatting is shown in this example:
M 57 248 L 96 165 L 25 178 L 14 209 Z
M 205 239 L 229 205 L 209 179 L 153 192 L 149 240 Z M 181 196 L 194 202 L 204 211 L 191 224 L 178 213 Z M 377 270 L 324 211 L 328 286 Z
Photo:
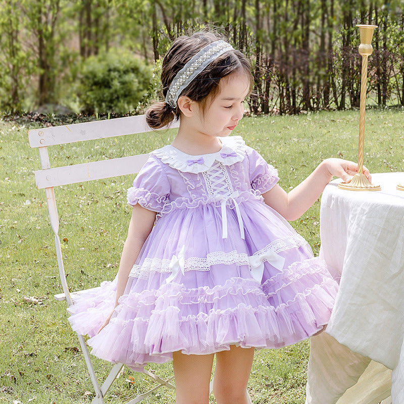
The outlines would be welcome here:
M 137 108 L 151 69 L 129 53 L 92 56 L 83 62 L 78 97 L 85 113 L 125 113 Z

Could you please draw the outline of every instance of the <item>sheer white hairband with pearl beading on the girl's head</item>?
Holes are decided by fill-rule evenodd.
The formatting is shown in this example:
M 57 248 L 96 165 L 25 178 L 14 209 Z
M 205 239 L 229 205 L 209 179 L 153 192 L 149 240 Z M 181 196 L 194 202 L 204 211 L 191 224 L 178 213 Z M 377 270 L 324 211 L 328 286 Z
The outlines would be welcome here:
M 212 42 L 200 49 L 173 78 L 167 91 L 166 103 L 175 108 L 182 90 L 216 58 L 233 49 L 230 43 L 223 40 Z

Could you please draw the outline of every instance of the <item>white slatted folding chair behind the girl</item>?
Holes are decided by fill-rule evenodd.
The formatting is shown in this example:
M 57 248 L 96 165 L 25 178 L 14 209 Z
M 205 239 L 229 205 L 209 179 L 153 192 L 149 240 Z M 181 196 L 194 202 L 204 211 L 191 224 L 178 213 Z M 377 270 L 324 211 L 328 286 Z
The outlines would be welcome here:
M 171 127 L 176 126 L 178 125 L 172 125 Z M 46 191 L 49 218 L 51 220 L 52 230 L 55 234 L 55 246 L 58 258 L 59 275 L 63 288 L 63 293 L 55 295 L 55 298 L 57 300 L 66 299 L 67 304 L 69 306 L 72 305 L 72 293 L 69 292 L 69 287 L 66 280 L 61 241 L 59 238 L 59 215 L 54 187 L 91 180 L 100 180 L 121 175 L 135 174 L 139 172 L 140 168 L 146 162 L 148 154 L 51 168 L 47 147 L 85 140 L 104 139 L 115 136 L 144 133 L 151 130 L 152 129 L 146 124 L 145 117 L 143 115 L 140 115 L 104 121 L 93 121 L 72 125 L 32 129 L 28 131 L 30 147 L 38 148 L 42 168 L 41 170 L 35 171 L 36 185 L 37 188 L 44 188 Z M 80 292 L 82 291 L 77 291 L 74 293 Z M 119 372 L 121 371 L 123 365 L 114 365 L 104 383 L 102 385 L 99 385 L 94 373 L 93 365 L 85 340 L 80 334 L 78 334 L 78 339 L 95 391 L 95 397 L 91 403 L 104 404 L 104 397 L 108 389 L 111 387 L 112 383 L 118 376 Z M 144 371 L 144 373 L 155 379 L 157 382 L 159 382 L 159 384 L 146 393 L 140 394 L 132 400 L 128 401 L 127 404 L 135 404 L 137 402 L 140 402 L 142 399 L 147 397 L 147 395 L 154 392 L 160 387 L 166 386 L 168 388 L 175 388 L 174 385 L 170 383 L 173 377 L 167 380 L 163 380 L 155 374 L 146 370 Z M 213 383 L 211 383 L 211 391 L 212 386 Z M 250 399 L 249 402 L 251 402 Z

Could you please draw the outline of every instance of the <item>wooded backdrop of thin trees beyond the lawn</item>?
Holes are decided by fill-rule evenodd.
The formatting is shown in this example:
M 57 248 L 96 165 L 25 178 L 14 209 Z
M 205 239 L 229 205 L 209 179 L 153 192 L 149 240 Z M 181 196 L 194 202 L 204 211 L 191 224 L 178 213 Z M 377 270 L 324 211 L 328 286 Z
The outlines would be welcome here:
M 369 59 L 370 99 L 381 106 L 404 105 L 401 0 L 0 0 L 0 5 L 6 11 L 0 15 L 3 109 L 57 99 L 68 103 L 76 97 L 81 63 L 112 49 L 127 50 L 158 69 L 174 38 L 201 28 L 225 33 L 251 59 L 252 113 L 356 108 L 359 23 L 379 25 Z M 25 89 L 25 82 L 37 90 Z M 34 102 L 27 103 L 27 93 L 36 94 Z

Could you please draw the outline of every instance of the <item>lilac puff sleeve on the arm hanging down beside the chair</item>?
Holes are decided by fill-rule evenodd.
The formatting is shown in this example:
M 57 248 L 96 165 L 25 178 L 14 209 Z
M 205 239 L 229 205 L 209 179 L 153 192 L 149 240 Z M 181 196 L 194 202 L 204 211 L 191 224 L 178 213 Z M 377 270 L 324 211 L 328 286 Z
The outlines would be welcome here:
M 127 200 L 130 206 L 139 204 L 149 211 L 162 212 L 170 193 L 170 184 L 163 171 L 162 163 L 151 156 L 128 189 Z

